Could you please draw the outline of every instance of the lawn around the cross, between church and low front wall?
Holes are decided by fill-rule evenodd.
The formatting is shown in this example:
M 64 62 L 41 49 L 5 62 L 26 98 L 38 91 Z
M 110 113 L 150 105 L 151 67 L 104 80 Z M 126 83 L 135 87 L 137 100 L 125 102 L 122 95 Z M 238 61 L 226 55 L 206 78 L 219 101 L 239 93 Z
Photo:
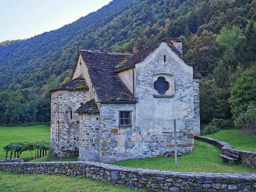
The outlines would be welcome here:
M 157 169 L 165 171 L 212 172 L 212 173 L 255 173 L 256 171 L 242 165 L 222 163 L 221 150 L 214 145 L 195 140 L 194 152 L 178 157 L 178 168 L 174 168 L 174 158 L 152 157 L 146 159 L 126 160 L 116 163 L 125 167 Z

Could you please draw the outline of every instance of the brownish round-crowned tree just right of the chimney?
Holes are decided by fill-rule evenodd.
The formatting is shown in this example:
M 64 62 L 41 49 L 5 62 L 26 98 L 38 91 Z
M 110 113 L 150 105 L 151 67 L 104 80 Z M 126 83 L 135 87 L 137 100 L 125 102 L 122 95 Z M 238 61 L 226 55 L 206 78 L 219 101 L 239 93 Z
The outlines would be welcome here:
M 217 66 L 219 58 L 219 44 L 216 35 L 204 30 L 201 35 L 191 36 L 189 39 L 190 49 L 187 57 L 192 61 L 203 76 L 212 73 Z

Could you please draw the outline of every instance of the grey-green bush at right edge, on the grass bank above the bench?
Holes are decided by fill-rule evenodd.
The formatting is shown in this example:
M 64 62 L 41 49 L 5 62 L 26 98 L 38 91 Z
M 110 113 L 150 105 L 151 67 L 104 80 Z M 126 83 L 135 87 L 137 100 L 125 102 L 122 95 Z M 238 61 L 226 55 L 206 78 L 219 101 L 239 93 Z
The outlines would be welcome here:
M 256 105 L 250 104 L 247 111 L 239 113 L 235 118 L 235 125 L 243 132 L 249 132 L 256 136 Z

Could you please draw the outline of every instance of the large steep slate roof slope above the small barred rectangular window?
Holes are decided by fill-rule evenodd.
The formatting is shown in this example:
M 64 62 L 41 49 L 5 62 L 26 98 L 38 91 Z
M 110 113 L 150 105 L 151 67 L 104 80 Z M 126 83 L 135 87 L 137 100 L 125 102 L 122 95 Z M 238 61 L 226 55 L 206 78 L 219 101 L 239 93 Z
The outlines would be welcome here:
M 115 66 L 130 54 L 91 49 L 81 49 L 80 54 L 88 68 L 99 101 L 136 101 L 114 72 Z

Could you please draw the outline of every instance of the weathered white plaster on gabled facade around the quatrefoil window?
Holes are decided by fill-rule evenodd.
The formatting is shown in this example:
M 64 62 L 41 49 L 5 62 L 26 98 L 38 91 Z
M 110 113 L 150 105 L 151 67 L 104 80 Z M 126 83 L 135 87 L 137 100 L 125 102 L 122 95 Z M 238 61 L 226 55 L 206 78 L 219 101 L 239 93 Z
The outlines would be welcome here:
M 174 75 L 174 97 L 153 96 L 153 75 L 158 73 Z M 185 131 L 185 120 L 193 120 L 193 67 L 185 64 L 166 43 L 136 64 L 135 89 L 136 125 L 143 136 L 173 132 L 173 119 L 177 131 Z

